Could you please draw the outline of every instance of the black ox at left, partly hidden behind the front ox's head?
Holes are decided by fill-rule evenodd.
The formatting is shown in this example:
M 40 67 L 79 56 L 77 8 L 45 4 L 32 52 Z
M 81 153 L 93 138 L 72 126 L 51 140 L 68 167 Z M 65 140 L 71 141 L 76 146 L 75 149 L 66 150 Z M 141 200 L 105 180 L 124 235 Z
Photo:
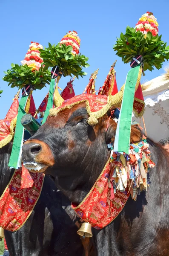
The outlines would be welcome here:
M 8 168 L 11 148 L 9 143 L 0 149 L 0 195 L 14 172 Z M 10 256 L 95 256 L 94 247 L 77 235 L 79 228 L 69 200 L 46 175 L 40 198 L 23 227 L 4 231 Z

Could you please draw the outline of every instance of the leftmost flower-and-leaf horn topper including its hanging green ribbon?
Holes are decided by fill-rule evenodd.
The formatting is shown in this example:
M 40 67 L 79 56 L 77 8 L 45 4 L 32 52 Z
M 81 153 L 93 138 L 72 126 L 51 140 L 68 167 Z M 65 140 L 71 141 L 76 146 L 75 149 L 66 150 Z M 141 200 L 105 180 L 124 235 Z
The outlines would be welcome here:
M 32 101 L 32 92 L 34 89 L 42 89 L 46 83 L 49 84 L 50 73 L 42 65 L 43 59 L 40 57 L 39 50 L 43 46 L 39 43 L 31 42 L 25 59 L 21 61 L 22 65 L 11 64 L 11 70 L 7 70 L 4 81 L 9 82 L 11 87 L 19 87 L 22 89 L 22 97 L 19 102 L 16 128 L 14 133 L 14 142 L 12 146 L 9 167 L 18 169 L 22 166 L 20 156 L 22 153 L 24 128 L 21 119 L 26 113 L 32 112 L 35 107 Z M 31 105 L 31 106 L 30 106 Z M 33 106 L 34 105 L 34 106 Z M 35 110 L 33 111 L 36 112 Z

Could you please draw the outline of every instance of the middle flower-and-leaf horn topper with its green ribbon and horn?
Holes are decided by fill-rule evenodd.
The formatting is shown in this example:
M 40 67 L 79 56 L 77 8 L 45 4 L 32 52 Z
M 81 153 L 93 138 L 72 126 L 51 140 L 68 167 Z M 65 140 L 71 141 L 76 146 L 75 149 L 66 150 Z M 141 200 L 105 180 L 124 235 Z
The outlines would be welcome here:
M 61 41 L 55 46 L 49 43 L 49 47 L 45 50 L 40 49 L 40 56 L 46 68 L 52 67 L 52 79 L 49 89 L 49 99 L 46 106 L 45 115 L 42 124 L 49 115 L 50 108 L 58 107 L 62 104 L 63 99 L 58 92 L 58 83 L 61 76 L 85 76 L 82 71 L 83 67 L 89 67 L 86 63 L 88 58 L 79 54 L 80 38 L 76 31 L 69 31 Z

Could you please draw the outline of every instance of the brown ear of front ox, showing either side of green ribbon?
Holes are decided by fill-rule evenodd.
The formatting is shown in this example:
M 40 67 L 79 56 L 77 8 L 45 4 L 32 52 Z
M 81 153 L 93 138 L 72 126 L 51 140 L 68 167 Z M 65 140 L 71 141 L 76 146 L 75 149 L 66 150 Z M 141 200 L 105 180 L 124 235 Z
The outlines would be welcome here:
M 109 128 L 106 131 L 106 144 L 109 144 L 110 142 L 114 143 L 115 141 L 115 135 L 116 135 L 116 128 L 117 123 L 110 119 L 109 121 Z M 142 132 L 138 125 L 132 125 L 131 127 L 131 134 L 130 134 L 130 143 L 137 143 L 142 140 Z

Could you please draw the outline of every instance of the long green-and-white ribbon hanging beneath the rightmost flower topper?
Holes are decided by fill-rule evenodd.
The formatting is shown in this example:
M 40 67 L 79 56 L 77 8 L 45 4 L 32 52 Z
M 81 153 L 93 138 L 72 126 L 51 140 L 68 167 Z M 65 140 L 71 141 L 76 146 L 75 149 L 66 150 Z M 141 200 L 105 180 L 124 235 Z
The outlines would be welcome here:
M 132 111 L 140 65 L 129 70 L 124 87 L 123 100 L 115 136 L 115 152 L 129 154 Z

